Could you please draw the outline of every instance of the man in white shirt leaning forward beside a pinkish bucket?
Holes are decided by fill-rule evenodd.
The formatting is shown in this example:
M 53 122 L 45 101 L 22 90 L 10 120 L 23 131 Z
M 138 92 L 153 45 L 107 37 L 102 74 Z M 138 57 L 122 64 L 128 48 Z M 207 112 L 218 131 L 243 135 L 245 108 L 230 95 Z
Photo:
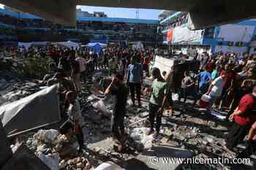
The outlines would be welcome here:
M 213 82 L 211 82 L 210 87 L 208 88 L 207 94 L 211 96 L 209 101 L 209 107 L 211 109 L 212 105 L 215 103 L 217 98 L 222 96 L 222 89 L 226 78 L 226 72 L 222 71 L 222 75 L 217 77 Z

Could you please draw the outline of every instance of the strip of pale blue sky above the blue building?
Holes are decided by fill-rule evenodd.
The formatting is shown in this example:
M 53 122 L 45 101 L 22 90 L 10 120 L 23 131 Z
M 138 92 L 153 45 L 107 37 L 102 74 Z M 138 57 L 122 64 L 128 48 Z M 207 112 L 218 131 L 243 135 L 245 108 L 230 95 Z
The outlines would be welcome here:
M 3 8 L 4 5 L 0 4 L 0 8 Z M 110 18 L 136 18 L 135 8 L 114 8 L 114 7 L 92 7 L 92 6 L 80 6 L 77 8 L 82 9 L 82 11 L 87 11 L 90 13 L 95 12 L 105 12 L 106 15 Z M 138 9 L 140 19 L 148 20 L 158 20 L 158 15 L 163 10 L 159 9 Z

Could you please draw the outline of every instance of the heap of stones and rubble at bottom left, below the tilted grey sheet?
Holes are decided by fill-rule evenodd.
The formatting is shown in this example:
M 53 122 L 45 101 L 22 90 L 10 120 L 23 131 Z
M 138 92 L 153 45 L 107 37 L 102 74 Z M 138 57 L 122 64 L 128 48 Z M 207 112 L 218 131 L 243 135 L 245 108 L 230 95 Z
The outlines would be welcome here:
M 89 153 L 78 153 L 78 142 L 69 141 L 54 129 L 37 131 L 27 139 L 26 146 L 51 170 L 89 170 L 92 167 Z

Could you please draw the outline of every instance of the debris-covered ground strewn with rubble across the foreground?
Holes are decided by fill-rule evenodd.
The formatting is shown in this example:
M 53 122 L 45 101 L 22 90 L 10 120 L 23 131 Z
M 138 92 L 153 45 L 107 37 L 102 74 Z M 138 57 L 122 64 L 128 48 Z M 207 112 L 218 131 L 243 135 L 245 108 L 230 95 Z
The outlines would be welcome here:
M 99 75 L 100 77 L 100 75 Z M 94 77 L 95 78 L 95 77 Z M 2 81 L 4 82 L 4 80 Z M 10 102 L 28 96 L 39 90 L 33 84 L 16 83 L 10 93 L 1 96 L 1 103 Z M 30 86 L 29 86 L 30 85 Z M 110 123 L 113 101 L 99 93 L 92 93 L 95 82 L 89 80 L 82 83 L 82 93 L 79 95 L 82 115 L 85 120 L 83 126 L 86 148 L 82 153 L 77 152 L 78 144 L 67 142 L 65 136 L 56 130 L 34 131 L 31 134 L 19 136 L 19 142 L 26 146 L 48 166 L 50 169 L 94 169 L 101 163 L 112 161 L 121 164 L 140 155 L 143 150 L 151 150 L 153 146 L 178 147 L 192 151 L 198 158 L 235 158 L 236 154 L 225 147 L 225 135 L 230 124 L 216 116 L 198 112 L 195 105 L 178 104 L 175 102 L 172 115 L 167 112 L 162 118 L 162 129 L 159 136 L 153 138 L 146 136 L 148 116 L 148 96 L 143 96 L 143 107 L 132 107 L 130 101 L 127 105 L 125 127 L 129 139 L 127 150 L 116 152 L 115 142 L 110 136 Z M 12 85 L 12 87 L 15 87 Z M 15 145 L 12 145 L 15 150 Z M 68 152 L 68 153 L 67 153 Z M 253 160 L 252 160 L 253 161 Z M 241 167 L 240 167 L 241 166 Z M 240 165 L 239 169 L 251 169 L 252 165 Z M 179 166 L 186 170 L 206 169 L 238 169 L 230 164 L 183 164 Z

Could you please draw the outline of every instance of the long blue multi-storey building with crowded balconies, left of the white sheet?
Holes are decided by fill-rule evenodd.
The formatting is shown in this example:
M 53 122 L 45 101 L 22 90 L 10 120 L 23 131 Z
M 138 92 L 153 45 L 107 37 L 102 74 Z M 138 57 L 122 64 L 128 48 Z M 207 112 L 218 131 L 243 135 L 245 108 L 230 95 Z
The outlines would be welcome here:
M 104 12 L 89 14 L 78 9 L 76 27 L 67 28 L 26 13 L 0 9 L 0 42 L 142 42 L 161 43 L 159 20 L 108 18 Z

